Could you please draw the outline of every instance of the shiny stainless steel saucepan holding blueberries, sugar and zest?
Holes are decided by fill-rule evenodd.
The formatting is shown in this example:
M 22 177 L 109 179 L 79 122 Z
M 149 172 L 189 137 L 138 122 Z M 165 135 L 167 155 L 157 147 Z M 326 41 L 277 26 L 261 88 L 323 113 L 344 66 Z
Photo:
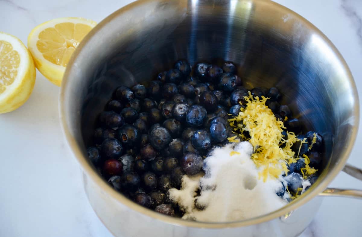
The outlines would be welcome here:
M 114 88 L 153 80 L 178 59 L 191 65 L 230 60 L 248 87 L 278 87 L 306 129 L 324 137 L 324 169 L 315 185 L 277 211 L 230 223 L 161 215 L 113 190 L 86 156 L 96 116 Z M 362 179 L 361 170 L 346 165 L 359 123 L 351 72 L 321 31 L 272 1 L 140 0 L 127 5 L 77 47 L 59 103 L 89 202 L 115 236 L 298 236 L 318 211 L 321 196 L 362 197 L 362 191 L 327 188 L 341 170 Z

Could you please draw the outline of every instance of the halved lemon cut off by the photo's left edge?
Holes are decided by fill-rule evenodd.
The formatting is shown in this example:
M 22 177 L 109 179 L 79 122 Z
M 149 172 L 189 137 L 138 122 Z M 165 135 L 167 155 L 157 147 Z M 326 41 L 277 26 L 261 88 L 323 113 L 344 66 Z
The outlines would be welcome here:
M 25 45 L 0 32 L 0 114 L 16 110 L 28 100 L 35 76 L 33 58 Z

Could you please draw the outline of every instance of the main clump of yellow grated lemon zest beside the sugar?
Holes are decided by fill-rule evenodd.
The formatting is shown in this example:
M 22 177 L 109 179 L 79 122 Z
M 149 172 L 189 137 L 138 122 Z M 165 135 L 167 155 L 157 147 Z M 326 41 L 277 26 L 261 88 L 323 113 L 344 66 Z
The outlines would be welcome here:
M 295 153 L 291 150 L 293 143 L 298 141 L 293 132 L 287 132 L 287 139 L 283 139 L 282 131 L 284 125 L 282 121 L 275 118 L 273 112 L 265 105 L 268 98 L 262 96 L 253 97 L 249 92 L 249 97 L 245 96 L 246 107 L 241 108 L 239 115 L 228 120 L 234 131 L 240 137 L 248 140 L 254 147 L 252 160 L 257 168 L 261 168 L 259 177 L 265 182 L 268 177 L 277 179 L 282 172 L 287 173 L 287 164 L 295 163 Z M 249 132 L 250 137 L 246 137 L 244 132 Z M 229 141 L 236 138 L 230 137 Z M 285 147 L 279 147 L 284 143 Z

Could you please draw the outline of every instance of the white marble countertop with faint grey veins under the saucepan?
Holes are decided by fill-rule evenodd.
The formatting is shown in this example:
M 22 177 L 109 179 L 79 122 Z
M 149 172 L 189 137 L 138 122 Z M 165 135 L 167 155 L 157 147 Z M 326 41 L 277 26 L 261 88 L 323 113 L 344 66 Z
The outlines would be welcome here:
M 26 43 L 36 25 L 57 17 L 101 21 L 131 0 L 0 0 L 0 31 Z M 337 46 L 362 92 L 362 1 L 277 0 L 319 27 Z M 58 118 L 59 88 L 40 73 L 20 109 L 0 115 L 0 236 L 111 237 L 84 194 L 80 169 Z M 360 103 L 362 95 L 360 94 Z M 362 104 L 362 103 L 361 103 Z M 361 122 L 362 124 L 362 122 Z M 349 162 L 362 167 L 362 126 Z M 339 174 L 333 187 L 362 189 Z M 325 198 L 303 237 L 362 236 L 362 200 Z M 131 227 L 130 227 L 131 228 Z M 135 227 L 136 228 L 136 227 Z

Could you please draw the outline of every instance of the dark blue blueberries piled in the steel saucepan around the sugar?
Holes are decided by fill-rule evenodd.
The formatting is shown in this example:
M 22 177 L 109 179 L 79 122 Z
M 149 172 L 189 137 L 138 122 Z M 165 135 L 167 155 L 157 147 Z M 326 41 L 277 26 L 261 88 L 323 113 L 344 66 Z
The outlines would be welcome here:
M 222 67 L 199 63 L 191 73 L 190 64 L 180 60 L 147 86 L 118 87 L 98 117 L 94 146 L 87 149 L 89 159 L 114 189 L 134 202 L 182 216 L 167 192 L 180 188 L 184 174 L 201 172 L 211 148 L 225 145 L 227 137 L 235 135 L 227 119 L 239 113 L 248 96 L 236 72 L 235 65 L 226 62 Z M 288 131 L 302 132 L 289 107 L 279 105 L 277 88 L 253 88 L 251 93 L 269 97 L 267 105 Z M 290 119 L 284 121 L 285 117 Z M 308 142 L 313 139 L 310 132 L 300 138 L 304 136 Z M 317 143 L 321 139 L 318 135 Z M 317 147 L 320 144 L 308 152 L 308 144 L 302 144 L 300 151 L 308 152 L 314 166 L 321 160 Z M 297 162 L 290 172 L 300 175 L 302 166 Z

